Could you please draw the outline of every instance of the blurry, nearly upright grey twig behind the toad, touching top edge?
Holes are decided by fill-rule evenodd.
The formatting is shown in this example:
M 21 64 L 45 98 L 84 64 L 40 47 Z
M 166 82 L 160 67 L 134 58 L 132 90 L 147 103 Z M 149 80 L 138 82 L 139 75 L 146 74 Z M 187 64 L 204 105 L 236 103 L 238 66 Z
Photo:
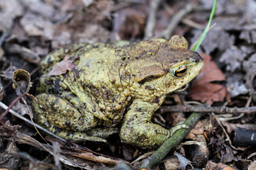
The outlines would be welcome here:
M 156 11 L 159 8 L 159 4 L 162 0 L 153 0 L 149 6 L 149 16 L 146 21 L 146 28 L 144 34 L 144 40 L 148 40 L 153 37 L 154 26 L 156 25 Z

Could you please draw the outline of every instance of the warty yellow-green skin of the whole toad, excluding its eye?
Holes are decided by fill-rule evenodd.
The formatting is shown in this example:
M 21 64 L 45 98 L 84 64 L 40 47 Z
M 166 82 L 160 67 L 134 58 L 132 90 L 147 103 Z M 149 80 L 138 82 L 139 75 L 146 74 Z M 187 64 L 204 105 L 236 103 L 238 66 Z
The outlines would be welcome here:
M 77 68 L 48 76 L 65 55 Z M 187 66 L 183 77 L 174 72 Z M 134 45 L 72 45 L 48 55 L 41 63 L 43 77 L 38 102 L 32 108 L 38 123 L 72 140 L 102 140 L 121 127 L 122 142 L 157 147 L 170 130 L 151 123 L 166 94 L 181 88 L 201 71 L 203 59 L 188 50 L 186 39 L 174 35 Z M 101 134 L 100 134 L 101 133 Z

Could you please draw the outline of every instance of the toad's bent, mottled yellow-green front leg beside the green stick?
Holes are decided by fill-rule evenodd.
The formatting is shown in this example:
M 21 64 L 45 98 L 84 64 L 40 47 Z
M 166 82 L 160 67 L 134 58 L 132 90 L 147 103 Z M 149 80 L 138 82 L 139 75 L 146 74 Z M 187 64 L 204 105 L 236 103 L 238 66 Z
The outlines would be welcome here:
M 135 99 L 124 116 L 120 132 L 122 141 L 146 148 L 157 147 L 166 141 L 171 136 L 171 132 L 151 123 L 151 117 L 157 108 L 159 103 Z

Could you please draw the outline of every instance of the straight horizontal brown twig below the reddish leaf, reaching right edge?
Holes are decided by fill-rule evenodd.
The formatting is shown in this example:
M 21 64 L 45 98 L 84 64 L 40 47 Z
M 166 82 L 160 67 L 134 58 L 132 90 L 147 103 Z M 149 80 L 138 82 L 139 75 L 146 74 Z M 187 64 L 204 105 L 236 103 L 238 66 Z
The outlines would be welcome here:
M 203 106 L 162 106 L 160 108 L 162 113 L 167 112 L 207 112 L 207 113 L 255 113 L 256 106 L 248 107 L 248 108 L 228 108 L 226 106 L 218 106 L 218 107 L 203 107 Z

